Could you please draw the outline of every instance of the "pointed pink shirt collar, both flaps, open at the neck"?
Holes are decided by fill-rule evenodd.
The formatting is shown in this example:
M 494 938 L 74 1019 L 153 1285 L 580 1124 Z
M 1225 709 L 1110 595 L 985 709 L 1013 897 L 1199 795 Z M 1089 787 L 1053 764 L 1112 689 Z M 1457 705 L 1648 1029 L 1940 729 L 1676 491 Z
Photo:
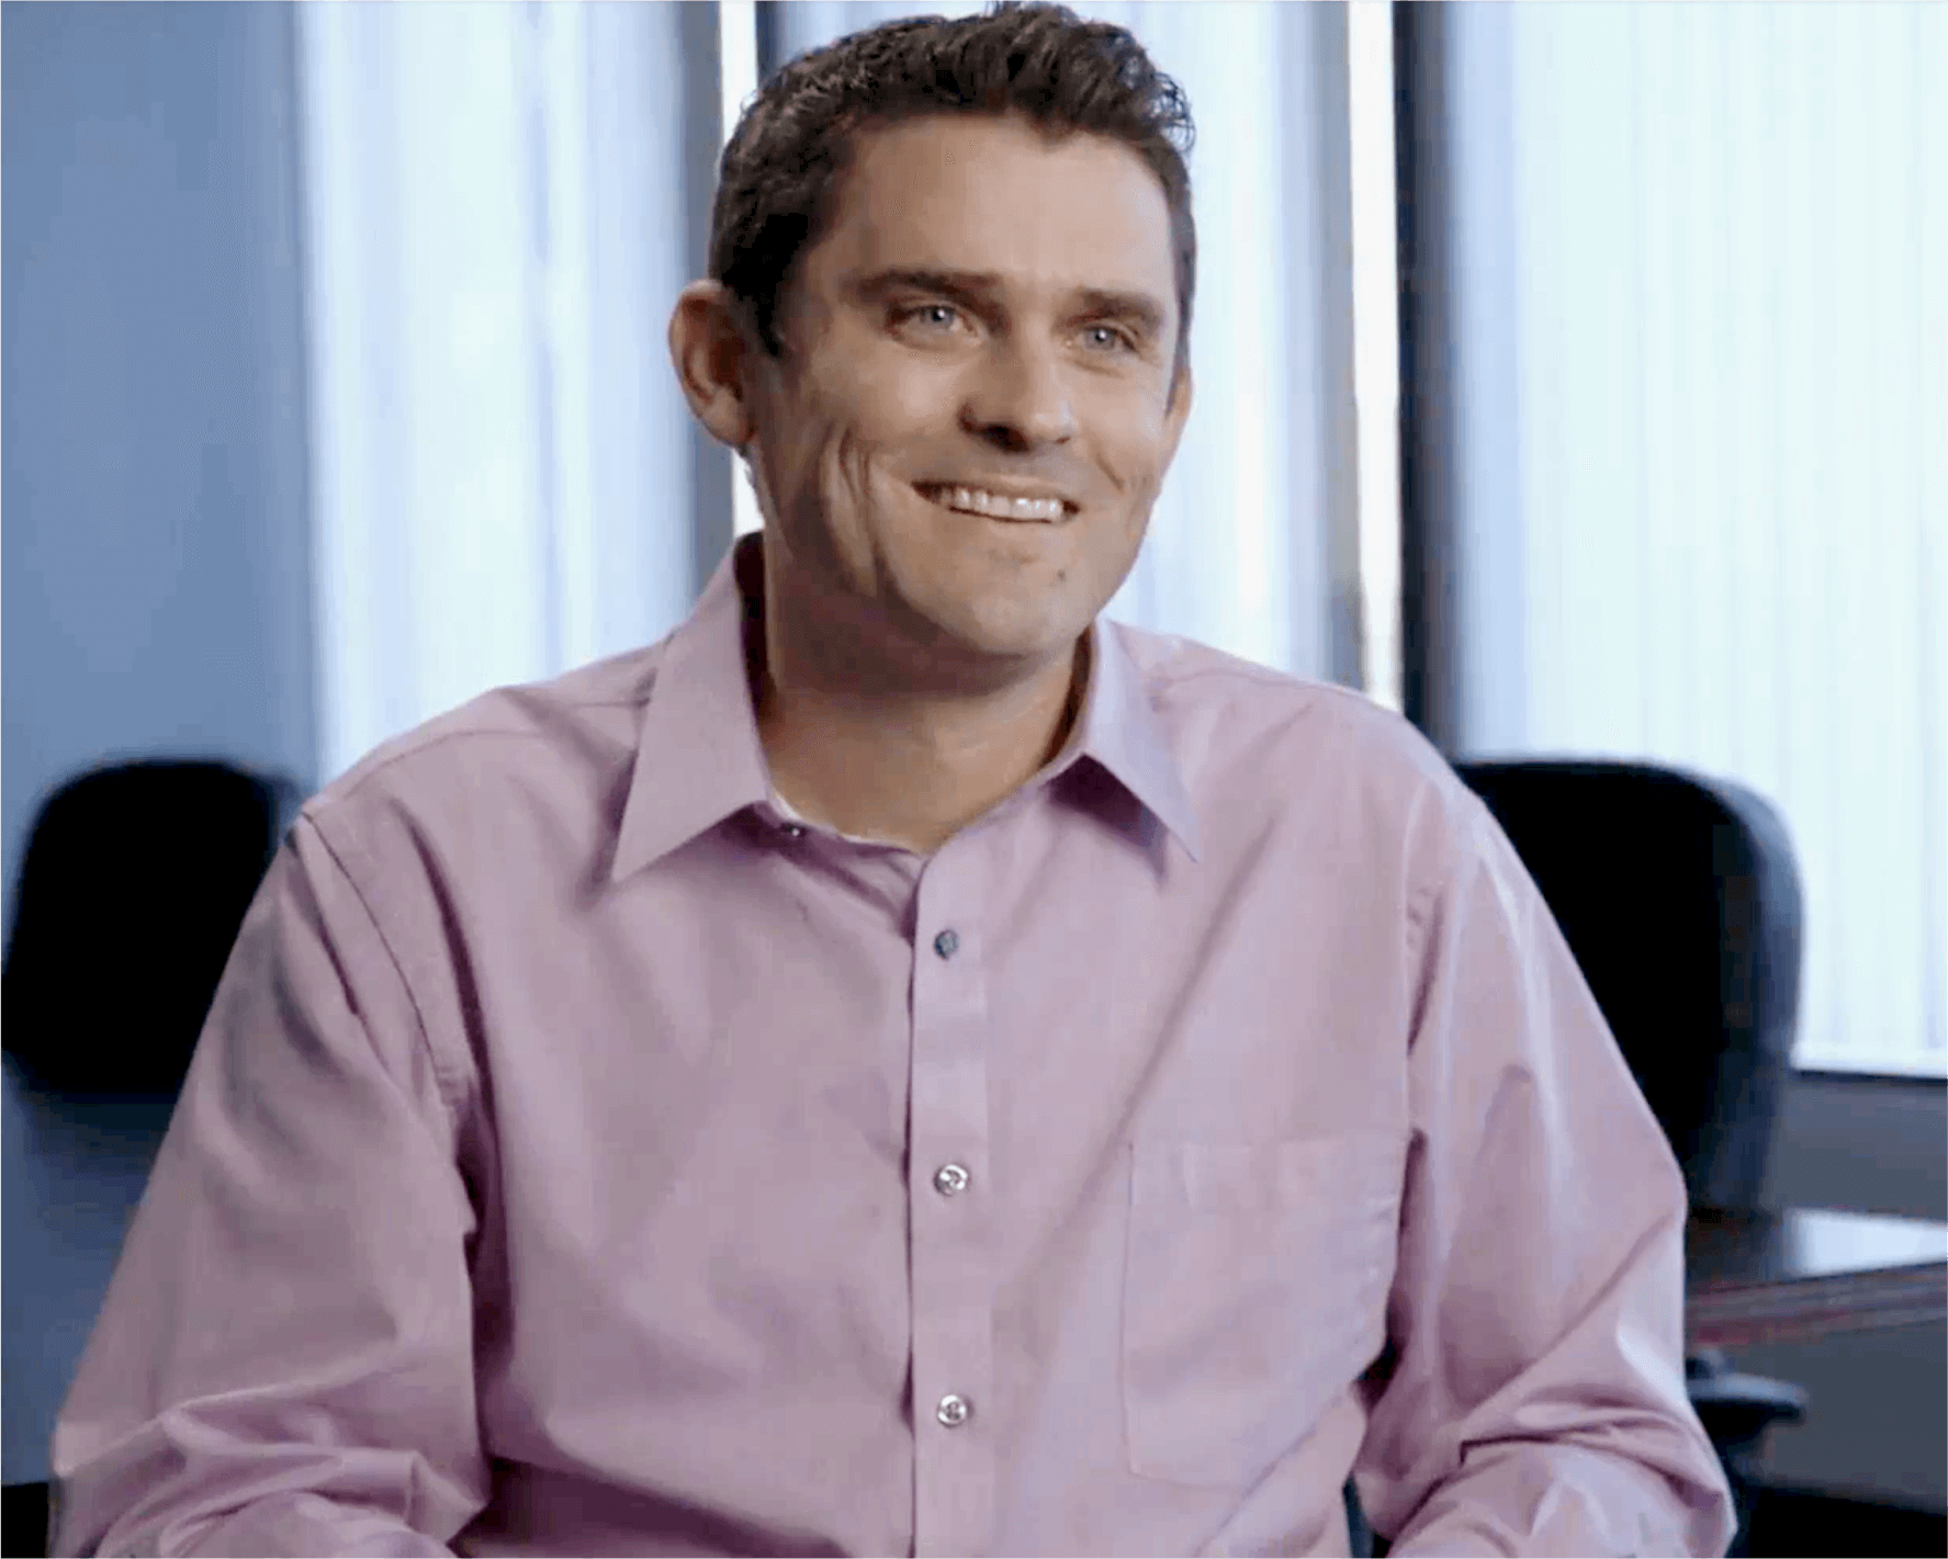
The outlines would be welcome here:
M 610 880 L 619 882 L 748 806 L 771 800 L 746 646 L 764 631 L 764 535 L 738 537 L 651 685 Z M 1202 854 L 1196 814 L 1122 631 L 1089 625 L 1081 716 L 1054 773 L 1089 757 L 1184 847 Z

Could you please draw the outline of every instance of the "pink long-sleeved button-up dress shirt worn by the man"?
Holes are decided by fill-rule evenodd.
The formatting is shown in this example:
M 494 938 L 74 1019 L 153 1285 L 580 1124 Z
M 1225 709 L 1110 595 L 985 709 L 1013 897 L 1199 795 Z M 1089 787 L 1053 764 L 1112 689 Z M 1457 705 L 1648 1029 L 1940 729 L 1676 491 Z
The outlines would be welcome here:
M 55 1438 L 55 1555 L 1722 1555 L 1677 1164 L 1488 814 L 1091 629 L 935 854 L 793 821 L 760 539 L 312 798 Z

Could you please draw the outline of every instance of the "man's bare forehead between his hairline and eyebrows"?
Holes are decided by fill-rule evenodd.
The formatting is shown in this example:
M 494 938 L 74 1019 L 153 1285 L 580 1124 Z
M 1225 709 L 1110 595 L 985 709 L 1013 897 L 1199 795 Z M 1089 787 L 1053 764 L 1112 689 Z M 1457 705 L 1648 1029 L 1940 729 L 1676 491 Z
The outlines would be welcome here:
M 886 267 L 1029 286 L 1128 288 L 1175 313 L 1171 208 L 1118 140 L 1044 140 L 1021 119 L 933 115 L 859 132 L 806 278 Z

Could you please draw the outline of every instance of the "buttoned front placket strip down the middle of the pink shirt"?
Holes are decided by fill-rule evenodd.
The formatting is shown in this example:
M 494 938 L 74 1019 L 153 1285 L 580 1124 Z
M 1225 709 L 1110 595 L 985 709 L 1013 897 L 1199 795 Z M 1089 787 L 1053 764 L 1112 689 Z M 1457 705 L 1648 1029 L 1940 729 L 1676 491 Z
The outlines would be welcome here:
M 974 909 L 974 884 L 937 856 L 914 934 L 916 1559 L 986 1553 L 993 1534 L 988 983 Z

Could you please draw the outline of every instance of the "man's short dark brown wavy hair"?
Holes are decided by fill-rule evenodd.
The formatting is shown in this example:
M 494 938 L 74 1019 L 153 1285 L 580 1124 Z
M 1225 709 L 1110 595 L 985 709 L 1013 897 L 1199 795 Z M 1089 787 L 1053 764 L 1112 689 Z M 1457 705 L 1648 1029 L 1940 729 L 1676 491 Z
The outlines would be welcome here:
M 1171 208 L 1177 360 L 1188 360 L 1198 236 L 1190 218 L 1190 105 L 1143 45 L 1068 6 L 997 0 L 984 14 L 888 21 L 812 49 L 766 78 L 719 165 L 709 276 L 764 350 L 783 354 L 779 300 L 824 236 L 853 132 L 923 115 L 1019 115 L 1044 136 L 1120 140 L 1155 171 Z

